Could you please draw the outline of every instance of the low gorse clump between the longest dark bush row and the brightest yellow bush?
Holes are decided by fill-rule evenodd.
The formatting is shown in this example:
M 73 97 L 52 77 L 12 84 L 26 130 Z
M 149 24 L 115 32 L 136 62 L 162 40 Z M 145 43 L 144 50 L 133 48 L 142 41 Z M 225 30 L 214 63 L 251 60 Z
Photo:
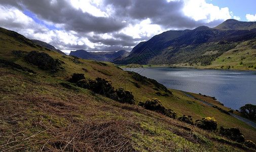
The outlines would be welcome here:
M 177 118 L 176 112 L 174 112 L 172 109 L 166 109 L 161 103 L 161 101 L 158 100 L 157 98 L 153 98 L 152 100 L 148 99 L 145 101 L 145 103 L 139 102 L 138 105 L 144 107 L 145 109 L 162 113 L 167 117 L 174 118 L 174 119 Z

